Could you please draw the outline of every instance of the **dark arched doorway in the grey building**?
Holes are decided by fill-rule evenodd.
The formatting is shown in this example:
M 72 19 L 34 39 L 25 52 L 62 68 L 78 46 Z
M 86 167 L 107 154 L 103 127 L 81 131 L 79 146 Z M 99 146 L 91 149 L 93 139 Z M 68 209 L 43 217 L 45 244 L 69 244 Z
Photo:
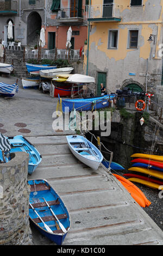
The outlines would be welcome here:
M 36 44 L 38 39 L 37 35 L 41 31 L 41 25 L 42 19 L 40 14 L 36 11 L 32 11 L 27 19 L 27 45 L 31 45 L 32 42 L 34 42 L 34 45 Z

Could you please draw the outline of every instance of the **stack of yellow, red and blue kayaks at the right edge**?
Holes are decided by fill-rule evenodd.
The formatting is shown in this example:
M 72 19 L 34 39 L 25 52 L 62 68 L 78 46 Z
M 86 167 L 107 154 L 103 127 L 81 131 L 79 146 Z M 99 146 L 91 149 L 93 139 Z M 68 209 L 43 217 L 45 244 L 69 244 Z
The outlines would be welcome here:
M 148 187 L 163 190 L 163 156 L 149 154 L 134 154 L 136 157 L 131 161 L 132 167 L 128 170 L 140 174 L 124 174 L 130 181 L 143 184 Z M 150 176 L 150 178 L 149 178 Z M 154 178 L 151 178 L 154 177 Z

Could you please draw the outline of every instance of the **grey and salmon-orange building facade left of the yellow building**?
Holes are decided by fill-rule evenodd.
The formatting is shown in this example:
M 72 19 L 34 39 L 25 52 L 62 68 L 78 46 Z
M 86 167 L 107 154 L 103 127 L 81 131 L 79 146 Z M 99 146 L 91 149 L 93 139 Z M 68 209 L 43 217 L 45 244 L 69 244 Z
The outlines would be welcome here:
M 0 1 L 0 38 L 7 37 L 8 22 L 13 25 L 13 41 L 33 47 L 41 27 L 45 28 L 45 48 L 66 48 L 68 28 L 72 27 L 72 48 L 84 46 L 87 38 L 86 0 L 18 0 Z

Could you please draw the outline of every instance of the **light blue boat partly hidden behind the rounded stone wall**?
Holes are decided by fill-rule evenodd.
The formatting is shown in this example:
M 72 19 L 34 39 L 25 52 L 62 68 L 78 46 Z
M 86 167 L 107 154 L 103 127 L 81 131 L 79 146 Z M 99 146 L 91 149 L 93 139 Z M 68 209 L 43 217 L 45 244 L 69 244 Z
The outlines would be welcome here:
M 22 135 L 17 135 L 15 137 L 8 137 L 11 144 L 10 153 L 15 152 L 26 152 L 29 154 L 29 163 L 28 163 L 28 174 L 31 175 L 36 167 L 41 162 L 41 155 L 39 151 L 32 145 L 26 138 Z

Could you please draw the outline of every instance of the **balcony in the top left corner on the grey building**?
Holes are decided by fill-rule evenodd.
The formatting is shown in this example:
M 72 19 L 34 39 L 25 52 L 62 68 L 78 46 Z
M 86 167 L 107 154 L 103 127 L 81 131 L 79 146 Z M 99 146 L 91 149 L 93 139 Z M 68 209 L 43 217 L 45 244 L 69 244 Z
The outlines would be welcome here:
M 17 14 L 17 1 L 0 0 L 0 15 Z

